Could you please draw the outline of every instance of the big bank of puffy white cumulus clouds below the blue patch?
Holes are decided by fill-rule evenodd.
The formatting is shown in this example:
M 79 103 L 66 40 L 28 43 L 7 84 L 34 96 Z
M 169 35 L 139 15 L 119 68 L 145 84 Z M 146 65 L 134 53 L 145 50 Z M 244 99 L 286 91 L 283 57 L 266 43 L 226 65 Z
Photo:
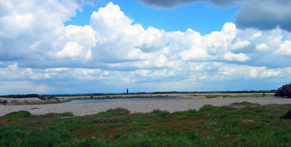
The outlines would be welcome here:
M 291 34 L 281 28 L 145 29 L 112 2 L 90 25 L 64 26 L 82 2 L 1 1 L 0 93 L 201 91 L 214 90 L 203 83 L 291 79 Z

